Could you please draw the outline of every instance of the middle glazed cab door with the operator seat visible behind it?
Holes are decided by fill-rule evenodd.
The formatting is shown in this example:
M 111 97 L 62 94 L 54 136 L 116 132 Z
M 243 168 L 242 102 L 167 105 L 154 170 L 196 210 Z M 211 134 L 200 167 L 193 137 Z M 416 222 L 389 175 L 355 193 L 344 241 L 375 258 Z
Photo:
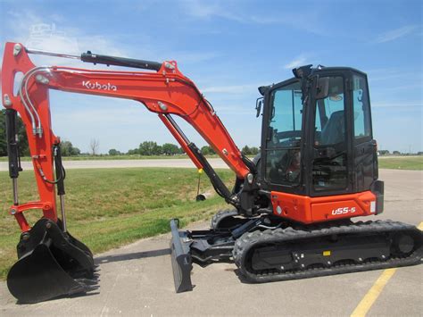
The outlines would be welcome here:
M 319 74 L 328 93 L 311 104 L 310 196 L 352 192 L 351 108 L 344 71 Z

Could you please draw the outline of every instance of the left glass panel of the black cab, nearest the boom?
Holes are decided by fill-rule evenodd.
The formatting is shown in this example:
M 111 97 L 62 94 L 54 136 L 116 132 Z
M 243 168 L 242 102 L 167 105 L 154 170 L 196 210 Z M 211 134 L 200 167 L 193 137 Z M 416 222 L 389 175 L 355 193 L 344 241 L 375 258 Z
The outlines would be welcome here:
M 271 191 L 305 194 L 302 96 L 297 79 L 275 85 L 265 96 L 261 171 L 264 187 Z

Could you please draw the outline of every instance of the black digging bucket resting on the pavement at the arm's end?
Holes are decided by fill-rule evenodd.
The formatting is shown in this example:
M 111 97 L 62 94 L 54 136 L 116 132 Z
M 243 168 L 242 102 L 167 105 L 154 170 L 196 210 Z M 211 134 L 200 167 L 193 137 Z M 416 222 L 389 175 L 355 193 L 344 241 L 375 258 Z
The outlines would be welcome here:
M 20 258 L 7 276 L 7 287 L 22 304 L 97 288 L 93 255 L 59 225 L 41 219 L 22 235 Z

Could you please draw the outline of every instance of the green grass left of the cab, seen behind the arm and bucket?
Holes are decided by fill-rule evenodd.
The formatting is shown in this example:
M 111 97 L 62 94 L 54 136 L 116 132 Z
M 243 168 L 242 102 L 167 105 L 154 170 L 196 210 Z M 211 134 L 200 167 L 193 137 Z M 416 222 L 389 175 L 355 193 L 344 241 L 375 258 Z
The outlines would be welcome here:
M 232 186 L 233 173 L 220 170 L 221 178 Z M 122 246 L 138 238 L 151 237 L 170 230 L 171 218 L 183 226 L 210 219 L 228 206 L 220 196 L 195 202 L 198 173 L 195 169 L 132 168 L 116 170 L 70 170 L 66 179 L 66 207 L 71 234 L 94 253 Z M 8 213 L 12 204 L 11 181 L 0 172 L 0 279 L 16 261 L 20 229 Z M 19 178 L 21 203 L 37 200 L 33 173 L 24 171 Z M 202 177 L 202 191 L 211 190 Z M 26 213 L 30 223 L 40 211 Z

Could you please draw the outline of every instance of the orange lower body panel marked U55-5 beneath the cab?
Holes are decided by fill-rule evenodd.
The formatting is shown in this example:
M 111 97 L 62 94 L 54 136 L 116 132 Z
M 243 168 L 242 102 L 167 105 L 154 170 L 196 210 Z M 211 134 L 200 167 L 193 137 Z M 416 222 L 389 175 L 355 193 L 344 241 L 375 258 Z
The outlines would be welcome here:
M 275 215 L 302 223 L 376 214 L 376 196 L 371 191 L 321 197 L 271 192 L 271 201 Z

